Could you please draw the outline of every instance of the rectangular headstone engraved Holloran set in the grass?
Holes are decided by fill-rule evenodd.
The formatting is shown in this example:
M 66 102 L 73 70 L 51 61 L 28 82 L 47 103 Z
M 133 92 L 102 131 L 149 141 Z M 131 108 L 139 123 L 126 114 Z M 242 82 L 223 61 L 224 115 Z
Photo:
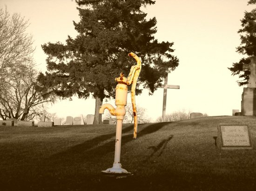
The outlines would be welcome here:
M 219 125 L 217 147 L 222 150 L 252 149 L 248 125 Z

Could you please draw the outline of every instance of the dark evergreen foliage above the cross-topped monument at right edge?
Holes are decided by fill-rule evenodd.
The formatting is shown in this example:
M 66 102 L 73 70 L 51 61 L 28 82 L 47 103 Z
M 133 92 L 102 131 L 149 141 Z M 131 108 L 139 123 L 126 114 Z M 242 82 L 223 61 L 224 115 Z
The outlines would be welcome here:
M 256 4 L 256 0 L 249 0 L 249 4 Z M 244 12 L 244 18 L 241 20 L 241 26 L 243 27 L 238 31 L 241 33 L 241 45 L 236 48 L 236 52 L 246 55 L 238 63 L 233 63 L 229 70 L 232 75 L 239 75 L 239 78 L 243 78 L 238 82 L 239 86 L 248 84 L 250 71 L 243 69 L 243 64 L 250 63 L 250 57 L 256 56 L 256 9 L 251 12 Z

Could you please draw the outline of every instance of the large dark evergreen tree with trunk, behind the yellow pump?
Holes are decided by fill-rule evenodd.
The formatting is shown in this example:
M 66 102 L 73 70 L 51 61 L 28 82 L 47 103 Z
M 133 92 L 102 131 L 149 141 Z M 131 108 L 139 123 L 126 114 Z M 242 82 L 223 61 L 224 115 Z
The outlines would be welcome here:
M 115 98 L 115 77 L 121 72 L 128 76 L 136 64 L 128 53 L 133 51 L 142 62 L 136 93 L 148 88 L 178 66 L 172 55 L 174 43 L 158 42 L 156 19 L 146 19 L 141 6 L 152 5 L 153 0 L 76 0 L 80 22 L 75 23 L 79 33 L 60 42 L 42 45 L 47 57 L 47 72 L 40 74 L 39 82 L 62 98 L 77 95 L 96 100 L 94 122 L 104 98 Z

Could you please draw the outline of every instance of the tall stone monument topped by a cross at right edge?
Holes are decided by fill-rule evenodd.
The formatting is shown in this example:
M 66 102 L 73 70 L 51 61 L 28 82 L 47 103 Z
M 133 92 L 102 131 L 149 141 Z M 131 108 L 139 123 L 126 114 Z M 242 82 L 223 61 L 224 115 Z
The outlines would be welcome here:
M 243 69 L 250 75 L 247 88 L 243 88 L 241 115 L 256 115 L 256 57 L 250 57 L 250 64 L 244 64 Z

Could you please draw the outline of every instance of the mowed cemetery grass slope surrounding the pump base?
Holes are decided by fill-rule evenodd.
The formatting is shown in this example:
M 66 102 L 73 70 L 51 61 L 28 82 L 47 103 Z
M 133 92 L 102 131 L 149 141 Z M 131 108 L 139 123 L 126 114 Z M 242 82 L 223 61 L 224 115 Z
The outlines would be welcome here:
M 218 124 L 248 124 L 253 150 L 219 151 Z M 124 124 L 121 164 L 133 176 L 107 178 L 115 125 L 0 127 L 0 191 L 256 190 L 256 117 L 216 116 Z

